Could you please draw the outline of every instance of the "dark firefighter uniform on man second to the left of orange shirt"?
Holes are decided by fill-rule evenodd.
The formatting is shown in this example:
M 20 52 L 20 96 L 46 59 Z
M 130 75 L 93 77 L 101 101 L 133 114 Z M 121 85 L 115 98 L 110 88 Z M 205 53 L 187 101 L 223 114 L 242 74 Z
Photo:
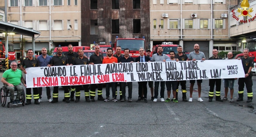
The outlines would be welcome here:
M 88 65 L 88 64 L 89 64 L 89 59 L 84 58 L 84 57 L 82 59 L 80 57 L 77 57 L 73 60 L 73 65 Z M 82 86 L 85 89 L 85 100 L 86 100 L 86 102 L 90 102 L 90 99 L 89 99 L 90 93 L 89 93 L 89 89 L 88 89 L 89 85 L 85 84 Z M 80 93 L 81 93 L 80 92 L 81 85 L 76 85 L 75 88 L 76 88 L 76 102 L 79 102 Z

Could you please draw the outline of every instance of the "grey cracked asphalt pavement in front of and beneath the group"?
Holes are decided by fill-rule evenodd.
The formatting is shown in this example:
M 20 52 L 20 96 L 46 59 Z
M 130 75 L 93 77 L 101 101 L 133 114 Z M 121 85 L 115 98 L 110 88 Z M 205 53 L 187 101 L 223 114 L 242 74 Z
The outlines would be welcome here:
M 3 73 L 0 73 L 0 78 Z M 253 78 L 253 92 L 256 88 L 256 74 Z M 234 100 L 238 97 L 238 84 L 234 85 Z M 150 100 L 148 88 L 148 103 L 135 102 L 138 99 L 138 84 L 133 83 L 133 102 L 85 102 L 81 91 L 79 103 L 62 102 L 63 88 L 59 87 L 59 102 L 47 102 L 46 89 L 43 88 L 40 105 L 16 105 L 7 108 L 0 106 L 0 136 L 38 136 L 38 137 L 160 137 L 160 136 L 249 136 L 256 135 L 256 99 L 229 103 L 229 101 L 208 102 L 209 80 L 203 80 L 201 97 L 204 102 L 197 101 L 197 84 L 193 92 L 193 102 L 183 102 L 181 87 L 178 101 L 157 102 Z M 187 81 L 187 89 L 189 89 Z M 1 83 L 0 86 L 3 86 Z M 118 87 L 119 89 L 119 87 Z M 53 87 L 51 87 L 51 92 Z M 160 89 L 159 89 L 160 91 Z M 128 96 L 128 92 L 126 93 Z M 221 97 L 224 95 L 222 81 Z M 189 92 L 187 93 L 189 98 Z M 96 95 L 97 97 L 97 95 Z M 105 97 L 105 87 L 103 88 Z M 165 88 L 165 98 L 167 92 Z M 172 95 L 171 95 L 172 97 Z M 112 97 L 111 97 L 112 98 Z M 230 98 L 230 93 L 228 94 Z M 119 99 L 119 93 L 118 97 Z M 8 98 L 7 101 L 10 99 Z

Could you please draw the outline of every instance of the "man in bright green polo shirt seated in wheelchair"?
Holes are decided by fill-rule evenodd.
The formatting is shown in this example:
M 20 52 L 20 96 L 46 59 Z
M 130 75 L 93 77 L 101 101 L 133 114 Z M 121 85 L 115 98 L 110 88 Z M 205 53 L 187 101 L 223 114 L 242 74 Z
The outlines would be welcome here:
M 20 96 L 22 94 L 23 87 L 20 83 L 22 82 L 24 86 L 27 85 L 25 84 L 25 80 L 22 76 L 22 71 L 17 69 L 17 62 L 11 62 L 10 67 L 11 69 L 4 72 L 1 82 L 3 82 L 6 89 L 9 90 L 12 105 L 21 105 Z M 14 99 L 15 88 L 17 89 L 16 100 Z

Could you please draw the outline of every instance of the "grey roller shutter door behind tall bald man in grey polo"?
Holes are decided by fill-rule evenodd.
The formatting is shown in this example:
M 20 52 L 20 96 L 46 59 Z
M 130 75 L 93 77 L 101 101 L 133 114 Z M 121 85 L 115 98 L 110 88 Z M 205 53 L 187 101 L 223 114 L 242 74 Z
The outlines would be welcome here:
M 195 44 L 199 45 L 199 51 L 202 51 L 206 59 L 209 59 L 209 41 L 183 41 L 183 51 L 193 52 Z

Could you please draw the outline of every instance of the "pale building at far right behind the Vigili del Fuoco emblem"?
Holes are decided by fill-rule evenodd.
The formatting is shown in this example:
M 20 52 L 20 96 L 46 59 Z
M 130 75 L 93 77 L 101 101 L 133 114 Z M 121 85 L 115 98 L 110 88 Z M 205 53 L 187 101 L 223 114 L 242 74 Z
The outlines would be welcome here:
M 230 37 L 237 39 L 237 46 L 240 51 L 246 46 L 246 40 L 256 38 L 256 1 L 248 0 L 249 7 L 243 9 L 242 3 L 230 8 Z M 247 10 L 248 15 L 243 16 L 242 11 Z M 250 10 L 250 8 L 252 8 Z M 240 11 L 240 12 L 238 12 Z M 256 48 L 256 47 L 255 47 Z

